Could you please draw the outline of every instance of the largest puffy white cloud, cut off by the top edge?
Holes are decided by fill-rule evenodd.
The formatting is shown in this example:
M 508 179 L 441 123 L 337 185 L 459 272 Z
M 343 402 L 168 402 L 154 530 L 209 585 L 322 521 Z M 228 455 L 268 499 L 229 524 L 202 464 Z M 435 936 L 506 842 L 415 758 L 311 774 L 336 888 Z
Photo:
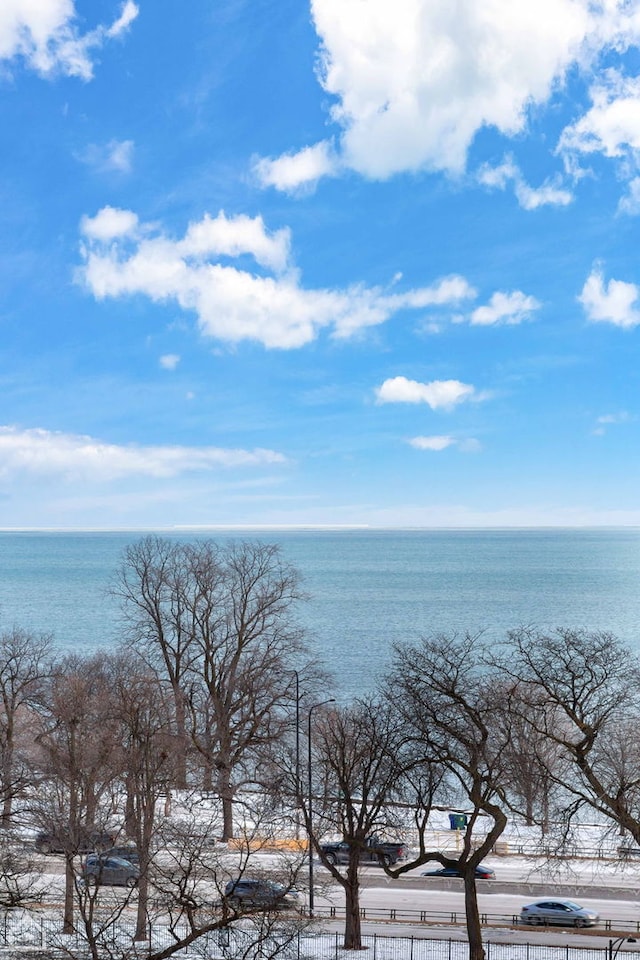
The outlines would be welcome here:
M 625 0 L 312 0 L 320 38 L 319 78 L 335 98 L 338 167 L 385 179 L 403 171 L 462 172 L 474 137 L 493 126 L 522 133 L 568 70 L 597 63 L 613 43 L 637 40 L 635 4 Z M 316 148 L 306 149 L 319 149 Z M 302 177 L 304 151 L 286 154 Z M 305 161 L 306 162 L 306 161 Z M 265 161 L 266 171 L 278 160 Z M 297 168 L 296 166 L 299 165 Z M 319 171 L 313 173 L 318 176 Z M 311 176 L 311 174 L 308 174 Z M 520 186 L 529 208 L 565 203 L 553 184 Z

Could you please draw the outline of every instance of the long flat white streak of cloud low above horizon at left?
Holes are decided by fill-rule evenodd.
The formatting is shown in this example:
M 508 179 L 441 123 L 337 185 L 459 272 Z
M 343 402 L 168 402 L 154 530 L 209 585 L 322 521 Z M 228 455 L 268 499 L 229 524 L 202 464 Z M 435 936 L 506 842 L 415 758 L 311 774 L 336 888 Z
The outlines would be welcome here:
M 49 430 L 0 427 L 0 476 L 22 472 L 104 481 L 130 476 L 175 477 L 194 471 L 284 462 L 285 457 L 273 450 L 121 446 Z

